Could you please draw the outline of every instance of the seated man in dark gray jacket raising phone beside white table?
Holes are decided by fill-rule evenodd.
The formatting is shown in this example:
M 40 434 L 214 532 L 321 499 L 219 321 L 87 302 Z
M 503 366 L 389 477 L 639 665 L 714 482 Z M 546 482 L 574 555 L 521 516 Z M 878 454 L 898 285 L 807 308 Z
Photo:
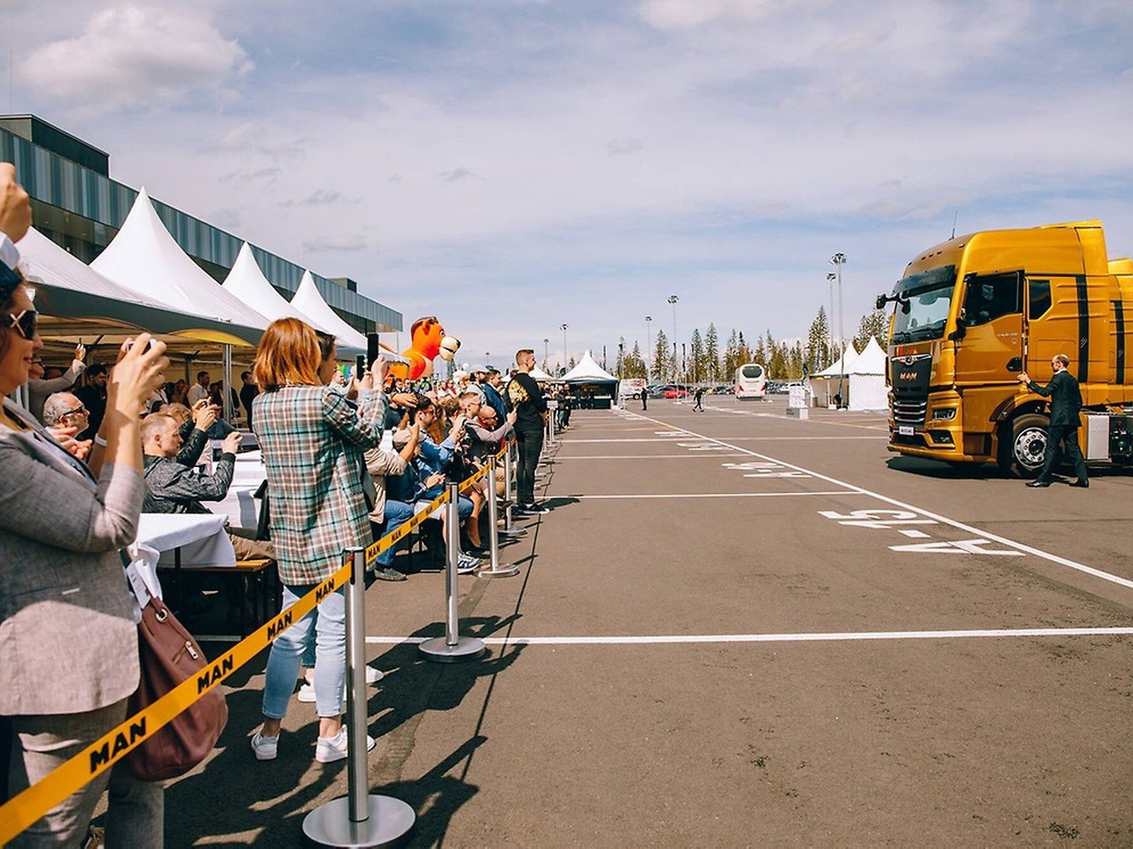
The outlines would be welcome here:
M 150 413 L 142 421 L 142 452 L 145 471 L 145 513 L 211 513 L 202 501 L 220 501 L 228 494 L 236 466 L 240 434 L 224 437 L 223 454 L 212 474 L 203 474 L 178 461 L 181 434 L 177 421 L 165 413 Z M 247 534 L 247 535 L 241 535 Z M 229 539 L 238 560 L 265 557 L 275 559 L 270 540 L 254 539 L 254 531 L 229 529 Z

